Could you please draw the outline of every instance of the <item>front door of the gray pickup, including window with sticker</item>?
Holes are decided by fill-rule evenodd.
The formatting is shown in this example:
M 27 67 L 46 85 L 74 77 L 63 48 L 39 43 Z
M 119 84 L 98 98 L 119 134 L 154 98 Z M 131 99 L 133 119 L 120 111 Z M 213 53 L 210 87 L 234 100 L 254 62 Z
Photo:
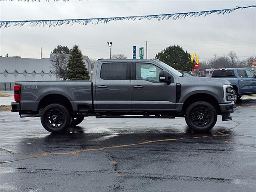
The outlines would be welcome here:
M 176 85 L 159 82 L 161 70 L 151 63 L 132 63 L 132 110 L 175 110 Z

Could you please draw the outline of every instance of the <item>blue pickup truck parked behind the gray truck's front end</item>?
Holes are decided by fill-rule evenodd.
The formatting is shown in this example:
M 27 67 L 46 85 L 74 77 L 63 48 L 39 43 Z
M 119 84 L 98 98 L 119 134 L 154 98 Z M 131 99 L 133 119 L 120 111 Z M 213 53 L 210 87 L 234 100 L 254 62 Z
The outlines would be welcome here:
M 230 81 L 234 90 L 234 102 L 244 95 L 256 94 L 256 74 L 244 68 L 214 69 L 212 77 Z

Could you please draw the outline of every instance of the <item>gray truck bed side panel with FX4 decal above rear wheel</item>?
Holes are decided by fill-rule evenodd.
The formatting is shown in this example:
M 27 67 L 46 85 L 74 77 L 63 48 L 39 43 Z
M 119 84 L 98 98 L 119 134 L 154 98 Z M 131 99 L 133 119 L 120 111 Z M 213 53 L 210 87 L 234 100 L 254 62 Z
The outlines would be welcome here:
M 92 81 L 20 81 L 16 85 L 21 86 L 22 110 L 38 111 L 42 102 L 59 96 L 66 97 L 74 111 L 92 108 Z

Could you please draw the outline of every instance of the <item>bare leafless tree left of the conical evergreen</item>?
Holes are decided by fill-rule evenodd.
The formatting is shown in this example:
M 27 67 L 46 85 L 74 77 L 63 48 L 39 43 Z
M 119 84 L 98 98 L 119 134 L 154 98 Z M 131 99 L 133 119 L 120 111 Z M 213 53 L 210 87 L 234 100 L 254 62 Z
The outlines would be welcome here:
M 51 60 L 51 69 L 52 73 L 57 77 L 67 80 L 66 70 L 68 69 L 68 58 L 65 57 L 65 54 L 52 54 Z

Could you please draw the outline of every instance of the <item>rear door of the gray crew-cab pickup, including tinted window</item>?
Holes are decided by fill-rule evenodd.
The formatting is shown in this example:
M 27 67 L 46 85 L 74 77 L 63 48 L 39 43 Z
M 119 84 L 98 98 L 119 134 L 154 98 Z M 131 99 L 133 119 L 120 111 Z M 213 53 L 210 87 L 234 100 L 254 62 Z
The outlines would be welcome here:
M 95 83 L 97 110 L 131 110 L 130 62 L 99 63 Z

